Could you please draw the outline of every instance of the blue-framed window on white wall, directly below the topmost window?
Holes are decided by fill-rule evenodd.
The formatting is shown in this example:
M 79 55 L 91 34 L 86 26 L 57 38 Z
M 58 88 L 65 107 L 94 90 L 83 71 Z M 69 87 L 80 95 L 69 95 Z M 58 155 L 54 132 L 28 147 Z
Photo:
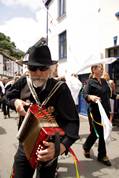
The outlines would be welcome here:
M 59 60 L 67 58 L 66 31 L 59 35 Z

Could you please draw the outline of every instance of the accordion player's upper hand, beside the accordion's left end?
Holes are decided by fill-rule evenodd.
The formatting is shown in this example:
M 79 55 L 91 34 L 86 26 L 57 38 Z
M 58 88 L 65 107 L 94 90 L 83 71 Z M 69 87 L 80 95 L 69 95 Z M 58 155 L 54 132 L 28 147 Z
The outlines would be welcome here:
M 25 116 L 26 115 L 26 111 L 24 109 L 24 106 L 29 106 L 29 103 L 20 100 L 20 99 L 16 99 L 14 102 L 14 106 L 16 108 L 16 111 L 19 113 L 20 116 Z

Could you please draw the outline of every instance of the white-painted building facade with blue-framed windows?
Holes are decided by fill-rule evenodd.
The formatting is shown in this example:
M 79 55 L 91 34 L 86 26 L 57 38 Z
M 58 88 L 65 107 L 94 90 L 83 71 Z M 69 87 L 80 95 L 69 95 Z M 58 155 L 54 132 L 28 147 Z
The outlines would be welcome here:
M 105 70 L 115 81 L 118 93 L 119 1 L 49 0 L 45 3 L 48 44 L 53 59 L 59 62 L 59 75 L 78 73 L 85 61 L 90 62 L 90 56 L 95 56 L 95 60 L 116 57 L 117 61 L 105 65 Z M 78 73 L 82 82 L 89 73 L 90 70 Z

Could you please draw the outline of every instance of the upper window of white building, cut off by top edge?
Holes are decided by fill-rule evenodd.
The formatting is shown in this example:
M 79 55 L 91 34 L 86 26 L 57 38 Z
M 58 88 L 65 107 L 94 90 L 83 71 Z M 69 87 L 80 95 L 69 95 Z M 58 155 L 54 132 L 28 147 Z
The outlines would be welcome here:
M 59 17 L 66 14 L 66 0 L 59 0 Z

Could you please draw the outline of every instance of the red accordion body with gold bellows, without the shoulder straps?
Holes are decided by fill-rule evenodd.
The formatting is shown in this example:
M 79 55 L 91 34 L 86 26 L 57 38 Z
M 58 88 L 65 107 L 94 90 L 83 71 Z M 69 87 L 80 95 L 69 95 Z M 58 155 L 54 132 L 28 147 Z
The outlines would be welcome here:
M 24 152 L 31 166 L 38 166 L 36 151 L 44 140 L 58 133 L 64 135 L 64 131 L 58 126 L 56 121 L 50 120 L 51 114 L 43 107 L 32 104 L 18 131 L 17 138 L 23 144 Z

